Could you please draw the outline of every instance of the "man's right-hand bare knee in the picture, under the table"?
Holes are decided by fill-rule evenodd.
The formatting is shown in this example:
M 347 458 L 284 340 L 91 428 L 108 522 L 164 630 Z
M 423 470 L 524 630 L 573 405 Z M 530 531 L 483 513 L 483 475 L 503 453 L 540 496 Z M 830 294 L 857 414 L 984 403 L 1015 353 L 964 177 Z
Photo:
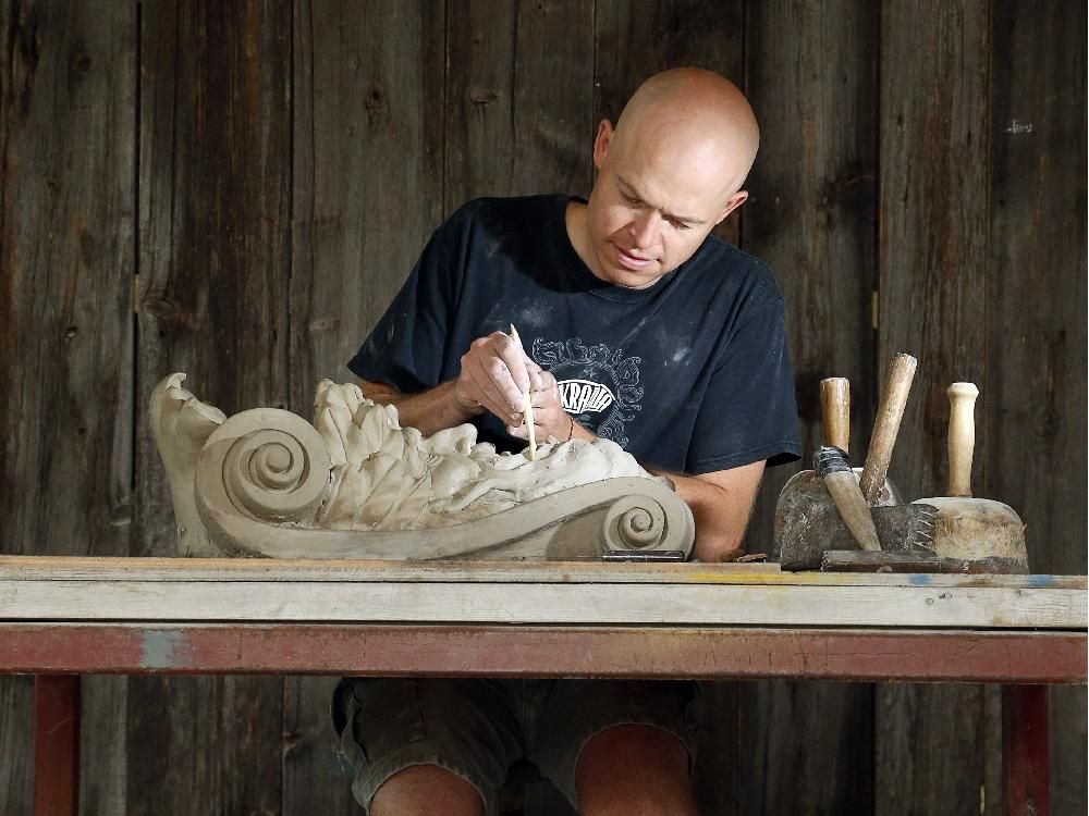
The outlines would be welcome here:
M 661 728 L 625 725 L 595 734 L 575 766 L 586 816 L 696 814 L 684 743 Z

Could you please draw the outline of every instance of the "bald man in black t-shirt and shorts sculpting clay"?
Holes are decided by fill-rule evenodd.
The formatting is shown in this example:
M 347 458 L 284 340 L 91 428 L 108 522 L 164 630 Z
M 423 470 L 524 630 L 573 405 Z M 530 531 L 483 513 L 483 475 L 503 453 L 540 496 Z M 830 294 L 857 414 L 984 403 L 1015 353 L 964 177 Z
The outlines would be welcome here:
M 601 122 L 587 201 L 478 200 L 436 232 L 350 363 L 364 393 L 425 434 L 472 421 L 516 450 L 528 390 L 538 440 L 604 436 L 669 473 L 694 556 L 729 558 L 764 466 L 800 453 L 782 297 L 709 237 L 758 141 L 721 76 L 651 77 Z M 353 679 L 335 719 L 377 816 L 482 813 L 521 756 L 583 814 L 672 816 L 696 812 L 697 706 L 685 683 Z

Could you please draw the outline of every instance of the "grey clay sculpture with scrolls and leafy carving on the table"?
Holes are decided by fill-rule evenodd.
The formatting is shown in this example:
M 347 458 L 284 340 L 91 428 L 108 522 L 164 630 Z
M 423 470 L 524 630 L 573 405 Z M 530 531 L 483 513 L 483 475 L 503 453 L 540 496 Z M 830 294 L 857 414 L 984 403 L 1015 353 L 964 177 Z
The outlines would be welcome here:
M 183 555 L 599 558 L 692 552 L 687 505 L 608 440 L 499 454 L 473 425 L 425 437 L 354 384 L 319 383 L 314 423 L 228 418 L 162 380 L 150 398 Z

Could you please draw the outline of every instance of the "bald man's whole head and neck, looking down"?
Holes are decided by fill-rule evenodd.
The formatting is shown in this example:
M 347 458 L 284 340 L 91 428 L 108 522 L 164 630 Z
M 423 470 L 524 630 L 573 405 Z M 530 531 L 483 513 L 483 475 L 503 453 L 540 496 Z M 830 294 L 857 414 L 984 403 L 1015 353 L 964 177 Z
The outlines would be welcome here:
M 748 198 L 742 185 L 759 140 L 745 97 L 718 74 L 650 77 L 615 127 L 598 125 L 590 197 L 567 206 L 578 257 L 607 283 L 652 286 Z

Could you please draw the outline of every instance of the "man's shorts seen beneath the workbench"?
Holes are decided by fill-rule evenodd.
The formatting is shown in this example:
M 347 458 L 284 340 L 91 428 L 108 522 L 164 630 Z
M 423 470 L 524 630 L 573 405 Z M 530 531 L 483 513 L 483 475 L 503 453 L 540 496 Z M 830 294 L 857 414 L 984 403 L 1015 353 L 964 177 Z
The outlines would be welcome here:
M 577 807 L 575 764 L 591 737 L 612 726 L 654 726 L 684 743 L 690 767 L 699 705 L 687 681 L 345 678 L 333 695 L 333 725 L 365 808 L 412 765 L 445 768 L 487 801 L 523 757 Z

